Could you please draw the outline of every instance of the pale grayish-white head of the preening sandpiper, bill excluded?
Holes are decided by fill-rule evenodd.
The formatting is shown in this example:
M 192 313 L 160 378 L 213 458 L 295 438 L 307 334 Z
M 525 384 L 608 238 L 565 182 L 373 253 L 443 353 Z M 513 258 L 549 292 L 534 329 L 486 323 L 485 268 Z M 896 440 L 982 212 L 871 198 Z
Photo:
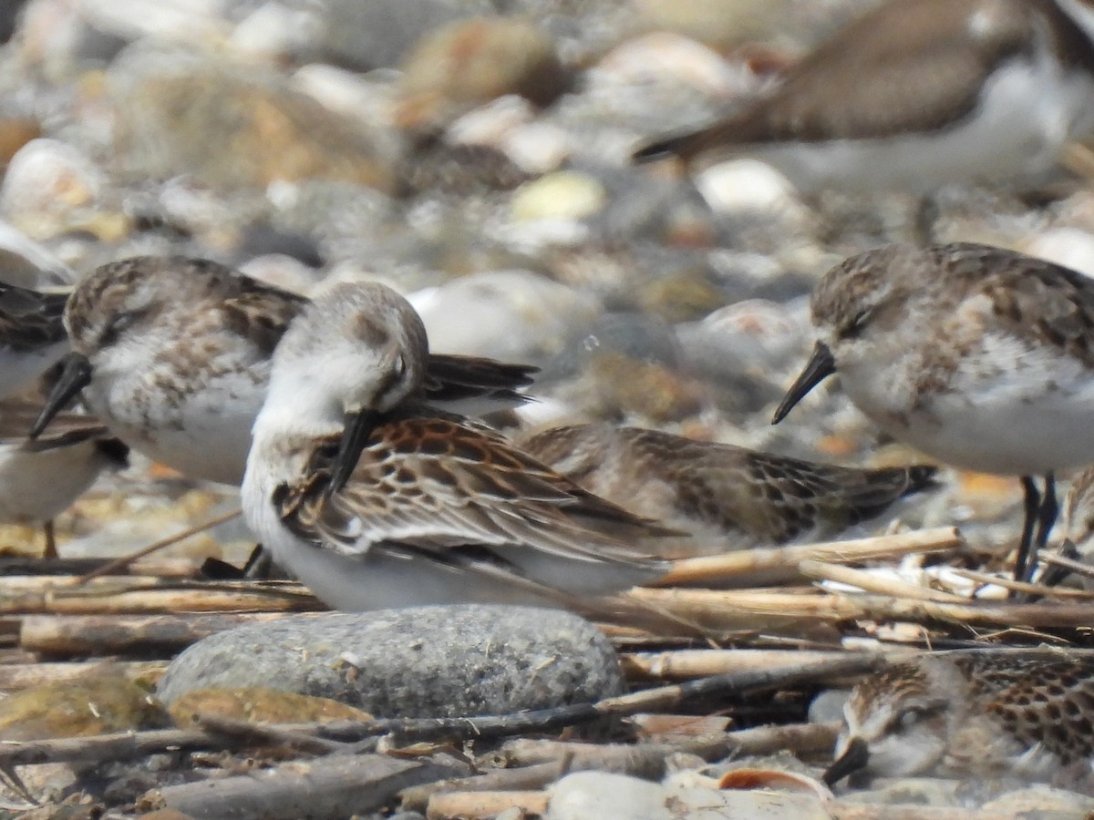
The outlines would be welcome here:
M 410 303 L 376 282 L 344 283 L 298 316 L 274 354 L 270 390 L 321 389 L 347 415 L 384 413 L 422 388 L 429 344 Z

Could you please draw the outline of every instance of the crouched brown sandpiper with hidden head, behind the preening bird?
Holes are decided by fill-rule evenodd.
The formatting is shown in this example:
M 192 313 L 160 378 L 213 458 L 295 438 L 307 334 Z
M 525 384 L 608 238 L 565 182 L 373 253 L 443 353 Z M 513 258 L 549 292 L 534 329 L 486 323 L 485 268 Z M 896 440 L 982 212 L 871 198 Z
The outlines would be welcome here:
M 519 446 L 591 493 L 690 532 L 690 549 L 703 551 L 833 536 L 930 487 L 936 471 L 837 467 L 607 423 Z

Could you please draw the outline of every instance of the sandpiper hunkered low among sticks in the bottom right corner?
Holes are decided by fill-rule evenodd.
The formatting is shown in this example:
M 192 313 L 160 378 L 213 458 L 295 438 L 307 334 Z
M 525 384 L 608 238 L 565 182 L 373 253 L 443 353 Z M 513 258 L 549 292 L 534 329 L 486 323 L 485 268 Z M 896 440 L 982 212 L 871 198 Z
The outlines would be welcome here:
M 1089 777 L 1094 653 L 926 654 L 856 687 L 843 716 L 829 783 L 854 771 L 1057 782 Z

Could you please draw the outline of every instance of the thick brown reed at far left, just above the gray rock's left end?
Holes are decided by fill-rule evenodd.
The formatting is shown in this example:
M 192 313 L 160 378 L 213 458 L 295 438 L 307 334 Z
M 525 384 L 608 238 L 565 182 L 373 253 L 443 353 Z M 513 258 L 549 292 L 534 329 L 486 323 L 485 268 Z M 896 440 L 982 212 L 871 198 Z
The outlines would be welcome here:
M 158 652 L 166 656 L 214 632 L 283 617 L 283 612 L 27 616 L 20 630 L 20 646 L 50 655 L 102 656 Z

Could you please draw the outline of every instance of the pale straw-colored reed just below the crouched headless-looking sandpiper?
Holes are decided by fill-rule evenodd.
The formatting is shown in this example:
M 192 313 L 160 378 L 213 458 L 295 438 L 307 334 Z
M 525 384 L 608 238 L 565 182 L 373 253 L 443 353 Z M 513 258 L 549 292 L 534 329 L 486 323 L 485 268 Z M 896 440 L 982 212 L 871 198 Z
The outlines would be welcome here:
M 878 538 L 738 550 L 722 555 L 675 561 L 668 574 L 657 581 L 657 586 L 741 582 L 754 575 L 763 577 L 767 583 L 775 583 L 799 577 L 798 565 L 802 561 L 859 563 L 917 552 L 952 550 L 964 543 L 956 528 L 939 527 Z

